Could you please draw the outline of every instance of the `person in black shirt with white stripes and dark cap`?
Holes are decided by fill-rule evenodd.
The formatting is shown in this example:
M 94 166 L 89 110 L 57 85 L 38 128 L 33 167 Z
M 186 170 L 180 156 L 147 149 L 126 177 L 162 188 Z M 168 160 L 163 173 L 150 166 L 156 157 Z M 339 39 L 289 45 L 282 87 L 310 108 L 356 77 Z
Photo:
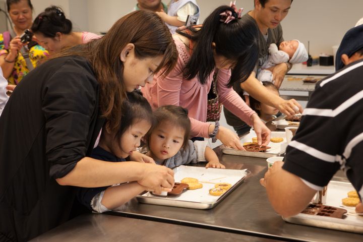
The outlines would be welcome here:
M 337 72 L 317 83 L 285 162 L 260 180 L 284 217 L 304 210 L 339 169 L 363 198 L 363 25 L 344 35 L 336 56 Z

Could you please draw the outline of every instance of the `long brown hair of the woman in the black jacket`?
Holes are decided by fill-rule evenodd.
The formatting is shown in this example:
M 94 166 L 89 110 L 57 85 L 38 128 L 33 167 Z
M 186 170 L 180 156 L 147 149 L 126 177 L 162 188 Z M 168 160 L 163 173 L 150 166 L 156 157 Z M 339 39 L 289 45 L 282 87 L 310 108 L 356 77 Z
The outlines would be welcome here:
M 54 56 L 80 55 L 91 63 L 99 83 L 102 116 L 112 124 L 111 130 L 119 129 L 122 104 L 127 98 L 120 53 L 128 43 L 135 45 L 137 58 L 163 55 L 155 73 L 163 69 L 161 75 L 167 75 L 176 64 L 177 50 L 169 29 L 155 13 L 142 10 L 120 18 L 102 38 Z

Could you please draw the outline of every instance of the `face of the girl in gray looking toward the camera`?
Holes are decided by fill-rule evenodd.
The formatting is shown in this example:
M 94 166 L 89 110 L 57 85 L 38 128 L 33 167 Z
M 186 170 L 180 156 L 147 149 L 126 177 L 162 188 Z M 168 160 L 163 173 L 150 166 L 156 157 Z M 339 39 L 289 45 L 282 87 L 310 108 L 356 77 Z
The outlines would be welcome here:
M 165 160 L 174 156 L 183 146 L 185 130 L 162 122 L 150 135 L 149 149 L 154 159 Z

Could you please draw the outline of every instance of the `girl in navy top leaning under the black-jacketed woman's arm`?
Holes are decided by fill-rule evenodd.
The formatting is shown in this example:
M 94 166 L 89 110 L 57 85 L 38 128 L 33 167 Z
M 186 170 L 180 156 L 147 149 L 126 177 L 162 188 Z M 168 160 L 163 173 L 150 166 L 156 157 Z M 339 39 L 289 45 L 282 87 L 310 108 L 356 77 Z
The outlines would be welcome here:
M 153 124 L 153 114 L 148 101 L 139 91 L 127 94 L 128 99 L 123 103 L 122 125 L 116 133 L 110 130 L 106 122 L 98 146 L 93 149 L 91 158 L 109 162 L 136 160 L 155 163 L 144 154 L 136 152 L 141 139 Z M 137 166 L 135 169 L 139 169 Z M 81 204 L 90 210 L 102 213 L 117 208 L 143 191 L 152 190 L 137 181 L 99 188 L 79 188 L 77 198 Z

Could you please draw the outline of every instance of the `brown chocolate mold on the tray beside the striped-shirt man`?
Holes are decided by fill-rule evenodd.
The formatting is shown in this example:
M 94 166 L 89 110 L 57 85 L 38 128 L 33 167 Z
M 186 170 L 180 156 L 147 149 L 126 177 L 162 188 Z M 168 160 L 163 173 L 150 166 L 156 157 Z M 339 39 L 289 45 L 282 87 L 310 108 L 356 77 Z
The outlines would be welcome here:
M 325 206 L 322 204 L 311 203 L 301 213 L 331 217 L 331 218 L 343 218 L 347 210 L 337 207 Z

